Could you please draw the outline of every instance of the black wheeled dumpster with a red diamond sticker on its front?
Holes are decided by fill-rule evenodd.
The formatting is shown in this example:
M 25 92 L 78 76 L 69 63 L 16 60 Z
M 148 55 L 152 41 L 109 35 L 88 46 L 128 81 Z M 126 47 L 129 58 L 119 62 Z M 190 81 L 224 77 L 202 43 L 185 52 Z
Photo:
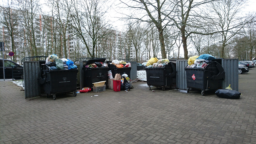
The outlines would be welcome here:
M 213 61 L 205 68 L 185 68 L 187 80 L 187 92 L 193 89 L 202 90 L 204 96 L 206 90 L 222 89 L 225 72 L 222 66 Z

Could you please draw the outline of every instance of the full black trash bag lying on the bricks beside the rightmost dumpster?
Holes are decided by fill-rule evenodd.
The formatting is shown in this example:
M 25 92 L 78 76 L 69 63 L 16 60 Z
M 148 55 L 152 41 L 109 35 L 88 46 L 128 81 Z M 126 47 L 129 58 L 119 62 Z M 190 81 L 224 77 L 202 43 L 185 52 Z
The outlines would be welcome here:
M 220 98 L 239 99 L 241 93 L 236 90 L 219 89 L 215 94 Z

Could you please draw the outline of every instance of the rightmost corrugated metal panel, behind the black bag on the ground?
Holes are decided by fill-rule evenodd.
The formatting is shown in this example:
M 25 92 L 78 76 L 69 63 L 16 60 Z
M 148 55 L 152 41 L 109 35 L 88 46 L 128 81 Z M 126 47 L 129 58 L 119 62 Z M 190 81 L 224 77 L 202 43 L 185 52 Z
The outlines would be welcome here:
M 225 71 L 223 88 L 230 87 L 238 91 L 238 59 L 222 59 L 222 67 Z

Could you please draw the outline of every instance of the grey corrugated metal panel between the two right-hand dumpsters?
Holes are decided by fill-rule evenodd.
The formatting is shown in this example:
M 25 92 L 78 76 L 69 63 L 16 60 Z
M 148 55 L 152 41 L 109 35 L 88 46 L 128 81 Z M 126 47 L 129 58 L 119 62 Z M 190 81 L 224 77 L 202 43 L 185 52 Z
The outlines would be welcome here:
M 180 90 L 187 90 L 186 65 L 188 65 L 188 60 L 177 60 L 176 62 L 176 88 Z

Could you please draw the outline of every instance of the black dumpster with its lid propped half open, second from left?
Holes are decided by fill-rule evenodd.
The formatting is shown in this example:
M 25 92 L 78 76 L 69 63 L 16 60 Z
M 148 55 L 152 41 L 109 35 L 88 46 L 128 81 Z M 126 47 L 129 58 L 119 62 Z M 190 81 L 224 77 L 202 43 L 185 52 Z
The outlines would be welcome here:
M 86 61 L 83 65 L 82 71 L 84 76 L 84 87 L 92 87 L 94 82 L 105 81 L 108 83 L 108 67 L 99 68 L 86 68 L 88 64 L 93 64 L 94 62 L 104 63 L 106 58 L 94 58 Z

